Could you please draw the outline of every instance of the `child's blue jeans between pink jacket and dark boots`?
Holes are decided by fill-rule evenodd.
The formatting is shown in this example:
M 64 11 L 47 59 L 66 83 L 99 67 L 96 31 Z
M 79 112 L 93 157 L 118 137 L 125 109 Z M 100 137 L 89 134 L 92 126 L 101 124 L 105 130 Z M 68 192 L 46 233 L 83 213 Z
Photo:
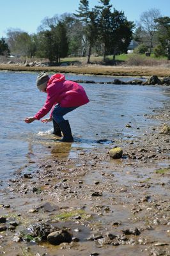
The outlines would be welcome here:
M 54 107 L 54 110 L 52 111 L 52 118 L 54 118 L 54 120 L 59 124 L 65 120 L 63 118 L 64 115 L 73 111 L 76 108 L 78 108 L 78 107 L 63 108 L 59 104 L 57 104 Z

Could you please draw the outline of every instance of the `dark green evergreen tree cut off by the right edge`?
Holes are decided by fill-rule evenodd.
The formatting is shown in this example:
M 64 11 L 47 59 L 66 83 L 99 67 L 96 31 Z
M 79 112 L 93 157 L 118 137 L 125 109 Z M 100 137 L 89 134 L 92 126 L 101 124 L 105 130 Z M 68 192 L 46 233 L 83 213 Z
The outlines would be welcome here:
M 157 22 L 158 40 L 164 49 L 164 54 L 170 60 L 170 17 L 160 17 Z

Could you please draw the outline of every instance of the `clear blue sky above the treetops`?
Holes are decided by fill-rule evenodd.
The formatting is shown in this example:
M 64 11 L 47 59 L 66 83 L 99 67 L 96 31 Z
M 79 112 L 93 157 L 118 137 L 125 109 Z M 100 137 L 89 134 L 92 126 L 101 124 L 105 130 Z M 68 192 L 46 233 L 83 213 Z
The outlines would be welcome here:
M 27 33 L 36 33 L 45 17 L 55 14 L 74 13 L 79 8 L 79 0 L 3 0 L 0 11 L 0 38 L 6 36 L 6 30 L 19 28 Z M 151 8 L 160 10 L 163 16 L 170 15 L 170 0 L 111 0 L 116 10 L 125 12 L 128 20 L 136 22 L 142 12 Z M 98 0 L 89 0 L 89 7 L 98 4 Z

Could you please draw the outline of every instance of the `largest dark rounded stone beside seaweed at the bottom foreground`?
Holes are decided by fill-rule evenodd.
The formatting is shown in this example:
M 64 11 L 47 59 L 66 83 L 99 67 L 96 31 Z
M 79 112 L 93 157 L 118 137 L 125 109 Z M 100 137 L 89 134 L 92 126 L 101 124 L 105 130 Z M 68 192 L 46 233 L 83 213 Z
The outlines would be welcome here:
M 72 241 L 71 234 L 66 230 L 59 230 L 49 234 L 47 241 L 50 244 L 59 245 L 61 243 L 70 243 Z

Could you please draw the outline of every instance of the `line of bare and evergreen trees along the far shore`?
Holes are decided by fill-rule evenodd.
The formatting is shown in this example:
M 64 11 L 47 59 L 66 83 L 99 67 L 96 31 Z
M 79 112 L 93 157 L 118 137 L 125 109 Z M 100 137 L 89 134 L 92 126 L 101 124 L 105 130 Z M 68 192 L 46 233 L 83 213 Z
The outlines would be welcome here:
M 92 53 L 102 55 L 104 62 L 112 55 L 114 61 L 116 55 L 127 53 L 132 39 L 141 52 L 154 51 L 155 56 L 170 60 L 170 17 L 161 17 L 159 10 L 151 9 L 142 13 L 135 26 L 124 12 L 112 8 L 110 0 L 99 0 L 91 9 L 88 0 L 80 0 L 76 13 L 46 17 L 33 35 L 8 29 L 6 40 L 0 40 L 0 55 L 12 52 L 48 58 L 51 65 L 58 65 L 66 56 L 87 56 L 89 63 Z

